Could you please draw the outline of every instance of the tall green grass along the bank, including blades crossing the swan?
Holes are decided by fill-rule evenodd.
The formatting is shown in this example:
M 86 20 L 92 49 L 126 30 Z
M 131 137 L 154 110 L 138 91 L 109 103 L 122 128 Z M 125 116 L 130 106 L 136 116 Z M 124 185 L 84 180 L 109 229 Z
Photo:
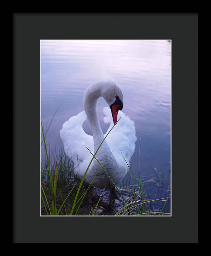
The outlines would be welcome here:
M 120 119 L 119 119 L 120 120 Z M 117 122 L 119 122 L 119 120 Z M 126 159 L 124 158 L 123 154 L 122 157 L 126 162 L 126 165 L 129 169 L 130 174 L 130 182 L 132 183 L 132 191 L 128 190 L 127 194 L 123 193 L 124 189 L 121 189 L 115 184 L 113 179 L 110 177 L 109 173 L 103 167 L 103 164 L 98 161 L 96 158 L 96 154 L 100 149 L 101 145 L 103 144 L 104 140 L 106 140 L 107 136 L 111 132 L 111 130 L 115 127 L 117 122 L 114 126 L 110 129 L 107 133 L 103 141 L 101 142 L 100 146 L 97 148 L 95 153 L 92 153 L 89 148 L 84 145 L 87 150 L 92 155 L 92 159 L 87 166 L 87 169 L 82 177 L 81 180 L 77 178 L 74 173 L 74 167 L 71 162 L 71 159 L 66 158 L 65 154 L 60 153 L 60 155 L 56 156 L 59 160 L 53 160 L 53 163 L 50 163 L 50 157 L 47 152 L 46 140 L 43 124 L 41 122 L 41 130 L 43 135 L 43 143 L 45 148 L 45 156 L 46 161 L 44 167 L 41 169 L 41 203 L 43 212 L 42 215 L 91 215 L 94 216 L 97 213 L 97 209 L 100 207 L 104 194 L 104 190 L 102 191 L 101 195 L 95 193 L 93 187 L 91 186 L 95 176 L 92 178 L 90 184 L 86 184 L 85 177 L 89 168 L 91 166 L 92 161 L 95 159 L 99 164 L 99 169 L 102 169 L 108 178 L 110 179 L 111 183 L 113 183 L 114 187 L 116 188 L 117 193 L 119 193 L 123 205 L 120 209 L 117 209 L 112 215 L 114 216 L 146 216 L 146 215 L 171 215 L 170 211 L 165 212 L 166 206 L 170 200 L 170 195 L 168 197 L 163 197 L 156 199 L 146 199 L 145 190 L 142 189 L 141 184 L 141 171 L 140 171 L 140 144 L 139 144 L 139 178 L 134 175 L 134 172 L 131 170 L 129 164 L 127 163 Z M 49 128 L 48 128 L 49 129 Z M 83 143 L 83 142 L 82 142 Z M 51 167 L 52 166 L 52 167 Z M 77 166 L 76 166 L 77 167 Z M 75 168 L 76 168 L 75 167 Z M 97 173 L 96 173 L 97 174 Z M 135 183 L 133 182 L 135 180 Z M 67 188 L 69 189 L 67 191 Z M 62 193 L 65 193 L 62 195 Z M 59 194 L 59 195 L 58 195 Z M 161 202 L 162 207 L 160 211 L 156 211 L 154 209 L 155 202 Z M 153 203 L 153 205 L 151 204 Z M 102 208 L 102 207 L 101 207 Z M 107 209 L 104 208 L 104 212 L 101 215 L 107 215 Z M 45 212 L 45 214 L 44 214 Z

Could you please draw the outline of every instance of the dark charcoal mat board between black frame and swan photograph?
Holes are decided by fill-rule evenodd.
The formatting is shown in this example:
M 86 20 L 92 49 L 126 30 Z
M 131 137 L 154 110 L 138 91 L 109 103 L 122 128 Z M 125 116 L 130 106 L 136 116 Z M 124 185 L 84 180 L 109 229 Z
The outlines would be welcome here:
M 171 217 L 40 217 L 40 39 L 172 40 Z M 13 243 L 198 243 L 198 13 L 13 13 Z

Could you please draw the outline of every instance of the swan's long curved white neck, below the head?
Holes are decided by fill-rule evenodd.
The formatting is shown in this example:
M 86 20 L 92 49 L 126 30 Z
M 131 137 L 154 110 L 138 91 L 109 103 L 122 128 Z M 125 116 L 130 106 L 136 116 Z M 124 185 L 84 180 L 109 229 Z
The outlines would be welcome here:
M 104 135 L 98 120 L 97 115 L 97 100 L 101 97 L 101 87 L 99 85 L 92 85 L 88 87 L 84 93 L 84 110 L 90 122 L 93 138 L 94 138 L 94 151 L 96 152 L 98 146 L 104 139 Z

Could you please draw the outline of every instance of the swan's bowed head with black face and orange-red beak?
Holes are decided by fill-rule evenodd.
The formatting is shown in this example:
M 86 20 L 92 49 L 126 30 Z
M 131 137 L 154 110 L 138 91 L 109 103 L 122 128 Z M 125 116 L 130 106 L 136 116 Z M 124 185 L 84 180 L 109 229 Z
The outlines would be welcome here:
M 117 122 L 117 114 L 123 108 L 123 94 L 120 88 L 113 82 L 107 81 L 101 90 L 101 96 L 106 100 L 111 109 L 114 124 Z

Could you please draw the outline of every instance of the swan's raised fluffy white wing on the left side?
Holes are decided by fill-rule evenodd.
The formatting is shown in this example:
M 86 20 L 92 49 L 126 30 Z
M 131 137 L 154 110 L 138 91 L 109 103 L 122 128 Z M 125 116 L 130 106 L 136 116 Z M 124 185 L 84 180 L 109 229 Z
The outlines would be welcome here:
M 78 173 L 79 176 L 83 176 L 84 168 L 82 168 L 82 166 L 87 166 L 87 163 L 91 160 L 91 154 L 82 142 L 91 152 L 94 152 L 93 137 L 85 133 L 82 127 L 86 119 L 87 115 L 85 111 L 82 111 L 77 116 L 72 116 L 66 121 L 60 130 L 60 137 L 64 145 L 65 154 L 73 160 L 76 173 Z

